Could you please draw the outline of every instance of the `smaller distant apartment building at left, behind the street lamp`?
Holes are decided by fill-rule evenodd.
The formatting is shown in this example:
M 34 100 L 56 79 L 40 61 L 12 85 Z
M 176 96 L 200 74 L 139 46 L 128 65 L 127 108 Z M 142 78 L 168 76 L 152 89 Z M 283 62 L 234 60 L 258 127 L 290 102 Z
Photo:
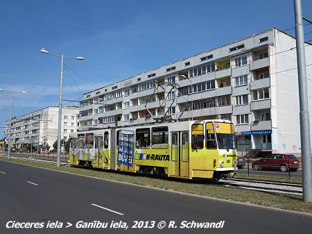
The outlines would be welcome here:
M 62 139 L 68 140 L 70 133 L 77 132 L 78 114 L 76 106 L 62 108 Z M 6 122 L 7 139 L 9 123 Z M 58 106 L 49 106 L 12 119 L 12 149 L 20 149 L 25 144 L 32 143 L 34 146 L 41 146 L 42 150 L 52 150 L 56 140 L 58 140 Z

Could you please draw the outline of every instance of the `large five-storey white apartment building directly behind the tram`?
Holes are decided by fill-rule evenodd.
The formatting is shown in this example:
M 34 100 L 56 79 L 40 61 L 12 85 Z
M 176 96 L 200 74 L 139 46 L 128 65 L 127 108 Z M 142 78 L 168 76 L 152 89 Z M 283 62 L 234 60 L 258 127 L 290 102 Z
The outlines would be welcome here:
M 300 153 L 295 45 L 272 28 L 87 92 L 79 131 L 221 118 L 234 122 L 239 151 Z M 311 44 L 305 49 L 312 97 Z

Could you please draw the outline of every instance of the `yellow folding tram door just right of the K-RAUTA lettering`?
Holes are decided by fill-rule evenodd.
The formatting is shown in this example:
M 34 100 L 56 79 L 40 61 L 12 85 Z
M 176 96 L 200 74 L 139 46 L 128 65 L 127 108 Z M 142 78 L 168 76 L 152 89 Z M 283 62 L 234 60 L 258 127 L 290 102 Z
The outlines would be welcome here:
M 189 177 L 189 132 L 171 133 L 171 175 Z

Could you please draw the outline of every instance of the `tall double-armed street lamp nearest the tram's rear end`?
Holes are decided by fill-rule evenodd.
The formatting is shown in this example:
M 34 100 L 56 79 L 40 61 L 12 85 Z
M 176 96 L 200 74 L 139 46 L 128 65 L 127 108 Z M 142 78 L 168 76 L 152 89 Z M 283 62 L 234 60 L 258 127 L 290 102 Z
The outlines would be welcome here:
M 84 60 L 83 57 L 65 57 L 63 54 L 62 56 L 58 56 L 53 53 L 49 53 L 49 51 L 46 51 L 44 48 L 40 49 L 41 53 L 47 53 L 51 56 L 55 56 L 58 58 L 61 58 L 61 76 L 60 76 L 60 99 L 59 99 L 59 104 L 58 104 L 58 153 L 56 157 L 56 166 L 60 167 L 60 141 L 61 141 L 61 128 L 62 128 L 62 85 L 63 85 L 63 64 L 64 64 L 64 58 L 68 59 L 76 59 L 76 60 Z

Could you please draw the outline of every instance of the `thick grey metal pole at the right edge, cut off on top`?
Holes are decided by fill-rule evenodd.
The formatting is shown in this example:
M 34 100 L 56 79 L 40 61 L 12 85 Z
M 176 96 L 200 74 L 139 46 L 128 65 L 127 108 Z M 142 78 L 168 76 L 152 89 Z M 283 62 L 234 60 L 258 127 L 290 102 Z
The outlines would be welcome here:
M 306 84 L 306 55 L 304 52 L 304 28 L 302 25 L 301 0 L 294 0 L 294 6 L 300 101 L 302 190 L 304 202 L 312 202 L 310 119 L 308 89 Z

